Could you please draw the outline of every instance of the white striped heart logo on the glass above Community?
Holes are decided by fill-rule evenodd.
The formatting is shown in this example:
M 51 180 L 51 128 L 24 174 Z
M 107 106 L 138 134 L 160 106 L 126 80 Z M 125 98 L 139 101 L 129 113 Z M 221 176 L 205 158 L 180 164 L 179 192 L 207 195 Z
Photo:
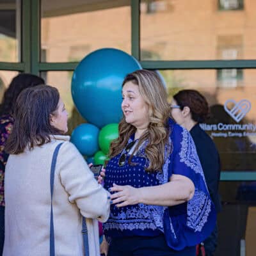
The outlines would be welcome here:
M 228 105 L 232 103 L 233 107 L 230 109 Z M 237 123 L 244 118 L 244 116 L 250 111 L 251 109 L 251 102 L 248 100 L 240 100 L 236 102 L 235 100 L 227 100 L 224 104 L 224 109 Z

